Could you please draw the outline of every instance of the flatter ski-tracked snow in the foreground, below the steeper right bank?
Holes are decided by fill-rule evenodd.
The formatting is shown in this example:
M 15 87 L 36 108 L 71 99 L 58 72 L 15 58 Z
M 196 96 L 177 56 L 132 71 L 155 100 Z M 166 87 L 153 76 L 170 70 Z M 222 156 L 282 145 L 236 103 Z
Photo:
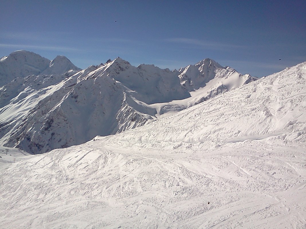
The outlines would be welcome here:
M 105 143 L 13 163 L 2 178 L 2 228 L 305 225 L 305 148 L 263 140 L 189 152 Z

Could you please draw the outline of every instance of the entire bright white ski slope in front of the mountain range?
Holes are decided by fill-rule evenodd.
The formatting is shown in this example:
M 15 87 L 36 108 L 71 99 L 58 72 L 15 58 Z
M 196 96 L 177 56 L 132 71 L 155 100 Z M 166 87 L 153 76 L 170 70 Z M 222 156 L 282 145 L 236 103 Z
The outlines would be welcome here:
M 306 62 L 1 165 L 1 228 L 305 228 Z M 209 202 L 209 204 L 208 204 Z

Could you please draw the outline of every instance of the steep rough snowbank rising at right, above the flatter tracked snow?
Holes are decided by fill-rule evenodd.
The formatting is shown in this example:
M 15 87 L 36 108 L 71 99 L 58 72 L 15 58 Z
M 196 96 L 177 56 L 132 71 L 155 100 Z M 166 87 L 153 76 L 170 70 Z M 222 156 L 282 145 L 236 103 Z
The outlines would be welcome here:
M 260 139 L 269 135 L 282 134 L 284 139 L 291 139 L 294 136 L 291 134 L 292 130 L 298 133 L 297 138 L 300 135 L 305 136 L 305 75 L 306 62 L 205 101 L 201 106 L 181 111 L 175 115 L 175 122 L 170 116 L 138 128 L 136 133 L 127 132 L 124 136 L 128 137 L 132 133 L 127 140 L 131 144 L 141 138 L 144 142 L 208 141 L 212 147 L 224 141 Z M 182 124 L 179 124 L 180 119 Z M 190 122 L 196 120 L 195 125 L 192 124 L 192 130 L 191 126 L 183 124 L 186 119 Z M 165 130 L 145 134 L 150 128 Z M 198 139 L 194 138 L 194 129 L 199 134 Z

